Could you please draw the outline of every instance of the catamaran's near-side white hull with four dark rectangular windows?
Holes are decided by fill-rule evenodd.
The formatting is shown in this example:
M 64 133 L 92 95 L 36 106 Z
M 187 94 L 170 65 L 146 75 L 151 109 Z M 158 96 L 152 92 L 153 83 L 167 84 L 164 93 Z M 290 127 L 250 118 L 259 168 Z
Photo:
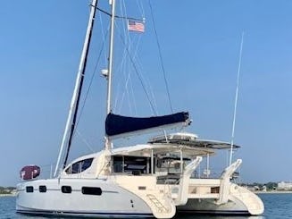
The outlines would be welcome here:
M 42 185 L 46 185 L 46 192 L 38 190 Z M 27 186 L 33 186 L 34 191 L 27 192 Z M 71 193 L 63 193 L 62 186 L 71 186 Z M 82 187 L 100 188 L 102 194 L 82 194 Z M 92 179 L 22 182 L 18 185 L 16 211 L 30 215 L 153 217 L 150 207 L 135 194 L 117 184 Z

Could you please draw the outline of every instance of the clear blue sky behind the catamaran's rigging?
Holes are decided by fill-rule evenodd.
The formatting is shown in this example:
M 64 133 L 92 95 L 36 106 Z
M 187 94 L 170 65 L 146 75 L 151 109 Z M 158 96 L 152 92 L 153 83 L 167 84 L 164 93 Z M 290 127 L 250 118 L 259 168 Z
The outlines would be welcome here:
M 125 1 L 130 3 L 127 14 L 146 18 L 144 34 L 129 33 L 126 21 L 116 21 L 114 112 L 154 114 L 138 78 L 142 75 L 157 114 L 171 114 L 155 27 L 173 110 L 188 111 L 193 120 L 186 131 L 201 139 L 230 141 L 244 31 L 234 138 L 241 148 L 234 158 L 243 160 L 242 181 L 292 181 L 292 2 L 151 0 L 154 23 L 149 1 L 141 1 L 143 7 L 137 2 Z M 22 166 L 38 164 L 48 171 L 56 163 L 89 1 L 2 0 L 0 4 L 0 185 L 13 186 L 20 181 Z M 109 10 L 107 1 L 100 0 L 100 7 Z M 106 68 L 106 29 L 106 16 L 97 13 L 84 93 L 91 78 L 92 86 L 71 159 L 103 147 L 105 81 L 99 72 Z M 126 61 L 125 47 L 139 74 Z

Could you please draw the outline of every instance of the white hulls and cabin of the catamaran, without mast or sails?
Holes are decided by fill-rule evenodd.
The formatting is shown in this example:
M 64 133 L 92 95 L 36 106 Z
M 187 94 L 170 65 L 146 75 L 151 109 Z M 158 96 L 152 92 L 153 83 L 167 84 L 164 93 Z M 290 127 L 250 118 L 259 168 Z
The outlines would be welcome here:
M 202 161 L 197 156 L 172 181 L 158 167 L 159 174 L 149 173 L 154 171 L 150 165 L 154 159 L 149 156 L 154 148 L 164 153 L 172 147 L 123 147 L 109 155 L 108 151 L 102 151 L 79 157 L 59 178 L 23 181 L 17 186 L 16 211 L 30 215 L 123 218 L 172 218 L 176 209 L 193 214 L 263 214 L 260 198 L 229 181 L 241 160 L 227 167 L 220 179 L 190 179 Z M 141 152 L 144 156 L 139 156 Z M 108 160 L 113 164 L 109 165 Z

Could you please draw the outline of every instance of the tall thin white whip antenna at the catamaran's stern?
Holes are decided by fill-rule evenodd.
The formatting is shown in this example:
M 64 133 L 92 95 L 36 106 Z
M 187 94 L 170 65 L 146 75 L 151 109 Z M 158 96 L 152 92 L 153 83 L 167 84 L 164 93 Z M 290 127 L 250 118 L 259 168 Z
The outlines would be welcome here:
M 238 87 L 239 87 L 239 76 L 240 76 L 240 69 L 241 69 L 241 57 L 242 57 L 242 46 L 243 46 L 244 36 L 245 36 L 245 32 L 243 31 L 241 34 L 241 43 L 240 43 L 240 50 L 239 50 L 238 80 L 237 80 L 237 89 L 235 92 L 235 103 L 234 103 L 234 113 L 233 113 L 233 123 L 232 123 L 229 165 L 232 163 L 232 155 L 233 155 L 234 130 L 235 130 L 236 117 L 237 117 L 237 108 L 238 108 Z

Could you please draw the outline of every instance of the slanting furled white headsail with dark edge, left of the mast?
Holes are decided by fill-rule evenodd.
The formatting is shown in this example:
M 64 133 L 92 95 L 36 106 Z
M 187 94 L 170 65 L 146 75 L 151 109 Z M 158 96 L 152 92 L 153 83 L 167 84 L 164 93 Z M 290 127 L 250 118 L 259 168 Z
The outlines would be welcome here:
M 76 122 L 77 113 L 78 113 L 79 98 L 80 98 L 81 88 L 82 88 L 82 84 L 83 84 L 83 80 L 84 80 L 84 73 L 86 70 L 89 44 L 90 44 L 92 29 L 93 29 L 93 25 L 94 25 L 94 21 L 95 21 L 95 16 L 96 16 L 97 2 L 98 2 L 98 0 L 92 0 L 92 4 L 90 5 L 91 11 L 90 11 L 89 20 L 88 20 L 87 34 L 86 34 L 86 38 L 84 41 L 82 54 L 80 57 L 79 70 L 77 73 L 74 92 L 73 92 L 73 95 L 71 98 L 70 111 L 68 114 L 68 118 L 67 118 L 67 122 L 66 122 L 66 126 L 65 126 L 65 131 L 63 133 L 62 144 L 60 147 L 57 164 L 56 164 L 55 169 L 54 169 L 54 177 L 58 173 L 58 169 L 59 169 L 59 165 L 60 165 L 60 161 L 61 161 L 61 156 L 63 155 L 63 149 L 65 147 L 66 142 L 67 142 L 67 150 L 66 150 L 66 154 L 65 154 L 65 158 L 64 158 L 63 167 L 67 163 L 67 159 L 68 159 L 68 155 L 69 155 L 69 151 L 70 151 L 70 147 L 71 147 L 71 140 L 72 140 L 73 132 L 75 129 L 75 122 Z M 66 141 L 66 139 L 68 139 L 68 140 Z

